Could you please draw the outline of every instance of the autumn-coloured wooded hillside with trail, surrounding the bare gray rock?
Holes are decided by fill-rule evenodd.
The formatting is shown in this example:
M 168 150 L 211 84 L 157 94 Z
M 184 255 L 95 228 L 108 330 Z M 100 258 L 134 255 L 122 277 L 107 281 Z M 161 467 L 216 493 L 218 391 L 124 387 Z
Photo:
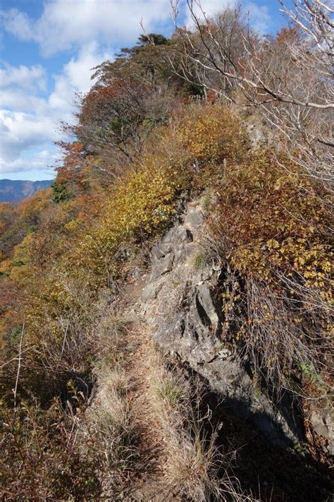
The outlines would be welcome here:
M 1 500 L 330 500 L 333 10 L 295 0 L 264 37 L 188 7 L 94 68 L 51 187 L 0 204 Z M 159 347 L 185 289 L 138 313 L 193 205 L 190 268 L 220 271 L 217 336 L 254 399 L 293 403 L 288 445 Z

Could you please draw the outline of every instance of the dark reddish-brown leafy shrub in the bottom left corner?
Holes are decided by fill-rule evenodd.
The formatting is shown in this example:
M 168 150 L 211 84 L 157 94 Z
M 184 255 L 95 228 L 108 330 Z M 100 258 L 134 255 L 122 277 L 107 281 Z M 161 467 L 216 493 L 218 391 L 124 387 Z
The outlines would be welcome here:
M 96 459 L 80 455 L 73 420 L 58 401 L 44 411 L 1 405 L 1 492 L 6 501 L 99 498 Z

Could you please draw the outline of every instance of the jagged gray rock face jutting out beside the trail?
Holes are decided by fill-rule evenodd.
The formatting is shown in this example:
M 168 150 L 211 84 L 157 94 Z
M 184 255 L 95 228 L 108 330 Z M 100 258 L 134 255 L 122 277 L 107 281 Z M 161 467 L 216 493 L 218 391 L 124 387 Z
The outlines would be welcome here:
M 204 376 L 234 414 L 251 420 L 279 446 L 297 442 L 302 434 L 292 402 L 285 397 L 273 407 L 223 339 L 223 270 L 205 263 L 205 234 L 202 205 L 191 203 L 183 223 L 154 247 L 142 293 L 147 322 L 159 345 Z

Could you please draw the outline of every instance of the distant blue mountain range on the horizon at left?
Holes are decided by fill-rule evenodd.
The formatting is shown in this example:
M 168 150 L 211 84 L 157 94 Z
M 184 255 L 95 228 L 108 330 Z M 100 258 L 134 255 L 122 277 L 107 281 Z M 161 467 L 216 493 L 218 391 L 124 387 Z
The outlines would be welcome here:
M 0 202 L 16 203 L 32 196 L 37 190 L 47 189 L 54 180 L 28 181 L 0 179 Z

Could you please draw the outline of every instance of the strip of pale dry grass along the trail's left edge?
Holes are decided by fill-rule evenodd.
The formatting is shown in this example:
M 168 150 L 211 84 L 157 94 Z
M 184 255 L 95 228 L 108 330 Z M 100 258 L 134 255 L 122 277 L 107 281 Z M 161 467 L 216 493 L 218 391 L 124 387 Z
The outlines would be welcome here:
M 94 338 L 99 357 L 93 370 L 97 384 L 92 407 L 87 410 L 87 434 L 93 434 L 99 442 L 104 490 L 115 494 L 143 467 L 140 427 L 131 399 L 135 376 L 129 367 L 128 328 L 122 316 L 109 308 Z

